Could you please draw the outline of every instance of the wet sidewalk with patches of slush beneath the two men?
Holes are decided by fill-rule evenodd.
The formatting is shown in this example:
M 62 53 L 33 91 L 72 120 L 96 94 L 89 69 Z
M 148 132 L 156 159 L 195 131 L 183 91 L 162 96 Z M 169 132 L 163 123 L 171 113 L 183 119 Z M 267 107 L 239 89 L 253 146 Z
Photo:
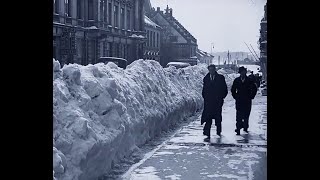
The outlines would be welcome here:
M 228 95 L 223 107 L 222 136 L 211 129 L 204 142 L 200 116 L 131 168 L 123 179 L 267 179 L 266 96 L 257 95 L 249 119 L 249 133 L 236 136 L 235 105 Z

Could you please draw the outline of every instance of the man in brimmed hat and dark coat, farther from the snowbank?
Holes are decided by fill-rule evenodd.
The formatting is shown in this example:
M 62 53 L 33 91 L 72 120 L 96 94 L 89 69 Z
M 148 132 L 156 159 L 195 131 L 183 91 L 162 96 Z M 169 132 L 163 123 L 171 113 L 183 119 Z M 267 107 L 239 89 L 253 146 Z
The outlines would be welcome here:
M 237 77 L 232 84 L 231 93 L 236 100 L 236 130 L 237 135 L 240 135 L 240 130 L 243 128 L 248 132 L 249 116 L 251 111 L 251 101 L 257 94 L 257 87 L 254 80 L 247 76 L 247 69 L 243 66 L 239 68 L 240 77 Z

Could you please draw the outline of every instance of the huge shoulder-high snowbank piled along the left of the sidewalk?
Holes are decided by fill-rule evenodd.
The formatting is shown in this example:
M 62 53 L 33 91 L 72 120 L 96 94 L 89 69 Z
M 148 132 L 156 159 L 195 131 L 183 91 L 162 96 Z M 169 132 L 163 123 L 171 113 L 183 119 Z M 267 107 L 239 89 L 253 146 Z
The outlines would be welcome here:
M 53 176 L 91 180 L 203 106 L 206 65 L 137 60 L 88 66 L 53 61 Z

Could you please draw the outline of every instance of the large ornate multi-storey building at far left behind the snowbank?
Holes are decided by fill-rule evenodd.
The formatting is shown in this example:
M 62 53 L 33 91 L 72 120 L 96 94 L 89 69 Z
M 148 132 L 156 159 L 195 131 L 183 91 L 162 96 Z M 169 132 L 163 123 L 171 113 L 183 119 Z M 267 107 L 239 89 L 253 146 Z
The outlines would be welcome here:
M 99 57 L 143 58 L 144 0 L 53 0 L 53 57 L 94 64 Z

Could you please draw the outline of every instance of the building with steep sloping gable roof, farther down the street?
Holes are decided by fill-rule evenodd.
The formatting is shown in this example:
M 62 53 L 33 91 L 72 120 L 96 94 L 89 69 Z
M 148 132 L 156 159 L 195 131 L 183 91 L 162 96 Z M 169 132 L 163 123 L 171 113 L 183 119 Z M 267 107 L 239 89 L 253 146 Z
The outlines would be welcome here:
M 176 20 L 172 8 L 167 6 L 165 12 L 152 8 L 146 12 L 148 17 L 161 27 L 160 33 L 160 64 L 166 66 L 169 62 L 197 62 L 197 40 Z

